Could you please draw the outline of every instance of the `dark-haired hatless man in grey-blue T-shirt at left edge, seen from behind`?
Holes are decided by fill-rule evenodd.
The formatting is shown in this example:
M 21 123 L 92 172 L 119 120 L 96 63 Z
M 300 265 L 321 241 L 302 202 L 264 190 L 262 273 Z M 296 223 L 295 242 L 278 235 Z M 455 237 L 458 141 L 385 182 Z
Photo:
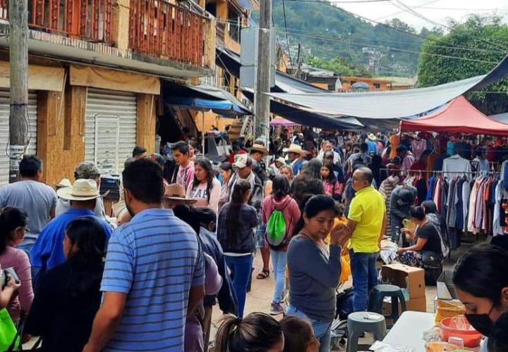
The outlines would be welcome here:
M 24 156 L 19 165 L 21 179 L 1 187 L 0 208 L 16 206 L 28 213 L 30 229 L 18 249 L 30 252 L 42 228 L 55 216 L 56 193 L 41 182 L 42 161 L 37 156 Z

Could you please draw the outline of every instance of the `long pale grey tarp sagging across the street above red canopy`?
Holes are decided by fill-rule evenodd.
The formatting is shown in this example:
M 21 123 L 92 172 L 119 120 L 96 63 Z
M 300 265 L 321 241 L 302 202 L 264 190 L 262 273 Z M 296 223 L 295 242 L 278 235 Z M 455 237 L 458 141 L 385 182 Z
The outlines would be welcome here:
M 478 90 L 508 77 L 508 56 L 488 75 L 404 91 L 365 93 L 288 94 L 270 93 L 272 98 L 313 113 L 347 115 L 361 118 L 364 125 L 372 120 L 398 119 L 430 111 L 471 90 Z

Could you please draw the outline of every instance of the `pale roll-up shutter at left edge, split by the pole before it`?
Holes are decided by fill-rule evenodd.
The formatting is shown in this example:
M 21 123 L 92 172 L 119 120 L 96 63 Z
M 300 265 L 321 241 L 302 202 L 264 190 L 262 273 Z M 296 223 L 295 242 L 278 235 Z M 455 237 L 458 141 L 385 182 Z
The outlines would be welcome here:
M 9 135 L 10 96 L 9 91 L 0 89 L 0 186 L 8 183 L 9 159 L 7 142 Z M 28 93 L 28 144 L 27 154 L 37 153 L 37 93 Z

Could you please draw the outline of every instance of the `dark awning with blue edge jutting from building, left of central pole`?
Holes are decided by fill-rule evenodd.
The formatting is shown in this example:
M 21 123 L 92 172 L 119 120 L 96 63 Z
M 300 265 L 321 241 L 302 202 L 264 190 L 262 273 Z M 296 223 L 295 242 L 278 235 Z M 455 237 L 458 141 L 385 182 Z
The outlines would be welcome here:
M 213 111 L 226 117 L 252 114 L 248 107 L 232 94 L 217 87 L 199 84 L 191 86 L 176 82 L 162 83 L 164 103 L 199 111 Z

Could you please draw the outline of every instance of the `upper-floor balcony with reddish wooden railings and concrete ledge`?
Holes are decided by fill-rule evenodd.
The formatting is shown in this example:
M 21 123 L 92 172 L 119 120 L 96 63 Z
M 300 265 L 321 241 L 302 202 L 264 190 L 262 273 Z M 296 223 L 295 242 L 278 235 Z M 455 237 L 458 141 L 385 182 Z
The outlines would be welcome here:
M 181 78 L 214 68 L 212 20 L 168 0 L 28 0 L 28 11 L 30 54 Z M 0 0 L 1 47 L 7 21 Z

